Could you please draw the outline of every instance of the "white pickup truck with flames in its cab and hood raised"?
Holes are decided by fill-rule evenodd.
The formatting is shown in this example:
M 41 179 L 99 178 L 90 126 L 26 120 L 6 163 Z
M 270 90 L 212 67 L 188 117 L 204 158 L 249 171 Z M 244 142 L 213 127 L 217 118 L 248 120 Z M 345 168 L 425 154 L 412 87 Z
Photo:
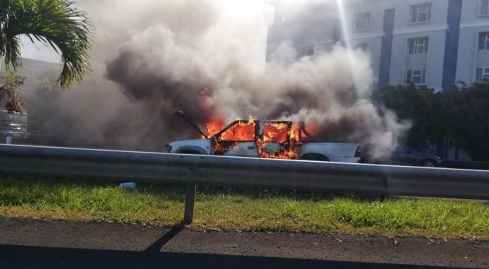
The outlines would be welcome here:
M 360 146 L 355 143 L 305 142 L 312 137 L 304 125 L 285 120 L 235 120 L 214 135 L 183 112 L 178 116 L 195 127 L 203 139 L 175 141 L 167 144 L 168 153 L 275 158 L 288 160 L 321 160 L 358 163 Z

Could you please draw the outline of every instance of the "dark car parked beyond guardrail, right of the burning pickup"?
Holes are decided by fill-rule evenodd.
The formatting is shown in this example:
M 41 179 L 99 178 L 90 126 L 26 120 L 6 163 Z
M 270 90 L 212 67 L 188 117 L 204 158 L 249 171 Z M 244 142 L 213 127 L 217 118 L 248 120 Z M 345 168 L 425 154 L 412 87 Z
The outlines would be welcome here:
M 441 158 L 429 149 L 418 151 L 410 147 L 398 146 L 389 156 L 383 158 L 373 158 L 372 151 L 373 147 L 370 144 L 362 146 L 360 163 L 422 167 L 437 167 L 441 165 Z

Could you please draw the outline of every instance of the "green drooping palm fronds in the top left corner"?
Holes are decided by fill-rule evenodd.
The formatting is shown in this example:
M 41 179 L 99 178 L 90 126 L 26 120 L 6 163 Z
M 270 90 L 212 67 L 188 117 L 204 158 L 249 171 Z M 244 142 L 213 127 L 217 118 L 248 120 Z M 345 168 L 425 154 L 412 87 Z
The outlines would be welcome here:
M 23 34 L 61 55 L 58 83 L 62 87 L 81 81 L 90 71 L 93 26 L 72 4 L 67 0 L 0 0 L 0 58 L 5 57 L 6 66 L 20 67 Z

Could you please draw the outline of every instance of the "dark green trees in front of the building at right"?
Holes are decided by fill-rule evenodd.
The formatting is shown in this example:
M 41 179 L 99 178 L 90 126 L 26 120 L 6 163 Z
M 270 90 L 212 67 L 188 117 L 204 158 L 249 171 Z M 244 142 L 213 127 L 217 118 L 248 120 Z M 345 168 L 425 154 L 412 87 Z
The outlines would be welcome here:
M 489 82 L 435 92 L 415 85 L 389 86 L 376 92 L 387 109 L 412 120 L 407 144 L 443 141 L 448 135 L 474 160 L 489 160 Z

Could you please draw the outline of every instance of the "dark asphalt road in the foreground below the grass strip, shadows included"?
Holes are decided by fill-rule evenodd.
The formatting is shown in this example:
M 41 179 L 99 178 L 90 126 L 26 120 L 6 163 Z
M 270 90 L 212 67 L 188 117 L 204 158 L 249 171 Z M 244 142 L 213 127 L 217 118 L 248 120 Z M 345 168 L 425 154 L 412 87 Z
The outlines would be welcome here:
M 0 218 L 0 268 L 489 268 L 489 242 Z

